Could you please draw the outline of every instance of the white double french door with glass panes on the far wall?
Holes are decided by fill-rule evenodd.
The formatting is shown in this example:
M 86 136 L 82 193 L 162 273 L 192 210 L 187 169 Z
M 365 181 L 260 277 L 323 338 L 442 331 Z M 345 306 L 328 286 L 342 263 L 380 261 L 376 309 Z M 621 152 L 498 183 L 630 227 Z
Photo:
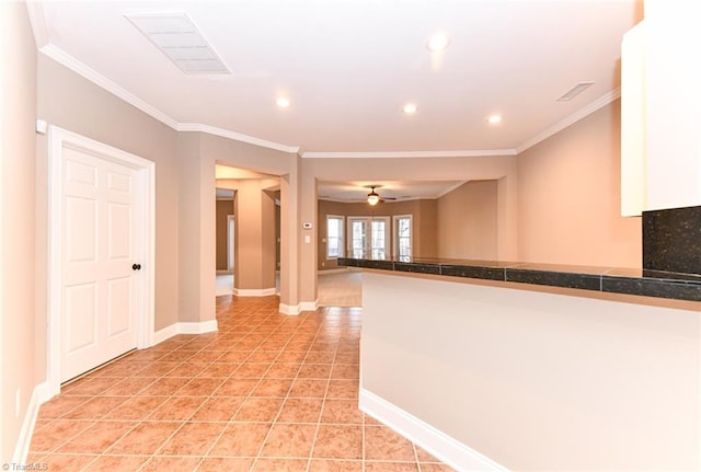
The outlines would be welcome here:
M 389 217 L 348 217 L 348 254 L 384 260 L 390 254 Z

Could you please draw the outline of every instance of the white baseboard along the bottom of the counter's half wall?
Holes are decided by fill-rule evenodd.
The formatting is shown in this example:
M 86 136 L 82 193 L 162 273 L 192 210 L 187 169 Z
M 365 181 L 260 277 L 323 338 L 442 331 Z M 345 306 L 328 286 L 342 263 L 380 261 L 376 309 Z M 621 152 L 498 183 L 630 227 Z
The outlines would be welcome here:
M 365 389 L 359 392 L 359 408 L 457 471 L 508 472 L 492 459 Z

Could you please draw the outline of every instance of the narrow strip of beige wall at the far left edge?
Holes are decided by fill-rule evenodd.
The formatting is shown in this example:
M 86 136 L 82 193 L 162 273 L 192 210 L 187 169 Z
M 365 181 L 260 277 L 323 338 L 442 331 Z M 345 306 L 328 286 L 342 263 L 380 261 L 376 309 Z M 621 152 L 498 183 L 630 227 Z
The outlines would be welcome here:
M 44 354 L 34 346 L 36 46 L 24 3 L 0 2 L 0 462 L 10 463 Z

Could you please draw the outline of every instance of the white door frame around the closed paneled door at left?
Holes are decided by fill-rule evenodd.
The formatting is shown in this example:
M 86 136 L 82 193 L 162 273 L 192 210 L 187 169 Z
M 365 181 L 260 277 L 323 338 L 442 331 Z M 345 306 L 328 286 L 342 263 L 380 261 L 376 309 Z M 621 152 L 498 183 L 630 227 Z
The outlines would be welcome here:
M 130 154 L 102 142 L 71 131 L 49 127 L 48 134 L 48 266 L 47 266 L 47 333 L 46 333 L 46 382 L 48 398 L 60 393 L 60 347 L 61 347 L 61 286 L 62 286 L 62 173 L 64 148 L 72 148 L 97 156 L 100 159 L 131 168 L 142 188 L 145 225 L 135 228 L 141 231 L 143 254 L 141 284 L 138 287 L 137 304 L 137 348 L 153 345 L 154 342 L 154 276 L 156 276 L 156 163 Z

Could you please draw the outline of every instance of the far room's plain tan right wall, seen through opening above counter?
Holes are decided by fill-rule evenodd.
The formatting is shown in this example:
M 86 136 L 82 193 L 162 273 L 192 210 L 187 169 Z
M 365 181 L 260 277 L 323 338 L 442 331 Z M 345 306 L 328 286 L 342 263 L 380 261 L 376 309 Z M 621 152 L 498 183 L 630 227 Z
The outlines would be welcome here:
M 497 258 L 497 181 L 471 181 L 438 198 L 438 256 Z

